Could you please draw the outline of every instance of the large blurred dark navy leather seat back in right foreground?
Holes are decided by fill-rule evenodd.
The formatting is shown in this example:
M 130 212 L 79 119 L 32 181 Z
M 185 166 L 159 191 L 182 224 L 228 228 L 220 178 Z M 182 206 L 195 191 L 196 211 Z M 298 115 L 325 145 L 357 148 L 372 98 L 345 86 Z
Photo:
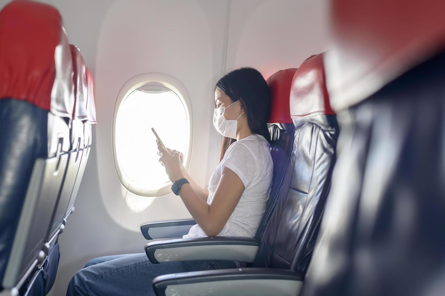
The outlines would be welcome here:
M 443 294 L 444 67 L 442 53 L 348 110 L 304 295 Z

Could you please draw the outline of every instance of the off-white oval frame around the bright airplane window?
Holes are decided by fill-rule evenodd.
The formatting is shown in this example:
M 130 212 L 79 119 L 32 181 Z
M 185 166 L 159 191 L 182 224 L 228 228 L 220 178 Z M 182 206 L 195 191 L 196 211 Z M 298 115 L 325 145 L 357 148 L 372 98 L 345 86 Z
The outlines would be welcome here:
M 192 103 L 190 100 L 189 93 L 187 92 L 186 87 L 179 81 L 177 78 L 170 76 L 164 73 L 144 73 L 139 74 L 130 78 L 125 84 L 121 87 L 121 90 L 117 94 L 116 103 L 114 105 L 114 113 L 113 113 L 113 160 L 114 166 L 116 168 L 117 176 L 121 181 L 123 187 L 126 190 L 134 193 L 135 195 L 146 196 L 146 197 L 158 197 L 162 195 L 166 195 L 171 192 L 171 182 L 163 183 L 158 189 L 149 189 L 146 187 L 142 187 L 138 185 L 138 182 L 134 182 L 125 174 L 122 170 L 121 165 L 119 164 L 117 154 L 116 154 L 116 121 L 117 121 L 117 113 L 124 103 L 125 99 L 131 94 L 134 90 L 143 87 L 143 86 L 161 86 L 168 89 L 171 89 L 182 101 L 182 105 L 186 111 L 186 120 L 187 120 L 187 133 L 189 137 L 187 138 L 186 143 L 186 151 L 184 152 L 184 167 L 188 170 L 190 165 L 190 156 L 192 152 L 192 143 L 193 143 L 193 113 L 192 113 Z

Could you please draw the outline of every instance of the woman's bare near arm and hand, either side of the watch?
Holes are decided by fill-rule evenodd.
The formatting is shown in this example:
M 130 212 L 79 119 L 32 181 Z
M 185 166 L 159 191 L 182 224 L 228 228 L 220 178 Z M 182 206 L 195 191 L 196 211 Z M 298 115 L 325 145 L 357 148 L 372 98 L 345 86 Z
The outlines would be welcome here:
M 181 169 L 180 156 L 176 150 L 169 151 L 158 143 L 158 150 L 162 153 L 162 162 L 170 181 L 184 178 Z M 193 219 L 208 236 L 217 235 L 223 230 L 232 212 L 241 198 L 244 184 L 235 172 L 225 167 L 214 193 L 212 202 L 207 204 L 193 190 L 191 184 L 184 184 L 179 196 Z

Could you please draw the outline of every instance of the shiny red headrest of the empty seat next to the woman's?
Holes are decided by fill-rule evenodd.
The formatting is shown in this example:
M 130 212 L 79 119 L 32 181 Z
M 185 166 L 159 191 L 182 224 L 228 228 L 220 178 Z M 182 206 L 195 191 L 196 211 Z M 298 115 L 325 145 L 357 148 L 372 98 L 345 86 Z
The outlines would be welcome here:
M 291 118 L 335 114 L 326 89 L 323 53 L 308 57 L 295 72 L 290 108 Z

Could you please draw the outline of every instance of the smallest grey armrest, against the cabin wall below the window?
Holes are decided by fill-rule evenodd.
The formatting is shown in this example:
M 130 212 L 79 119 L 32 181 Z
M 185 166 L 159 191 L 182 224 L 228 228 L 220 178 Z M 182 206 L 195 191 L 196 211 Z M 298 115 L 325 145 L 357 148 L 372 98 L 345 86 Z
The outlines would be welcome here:
M 146 239 L 176 238 L 189 233 L 195 224 L 193 219 L 154 221 L 142 224 L 141 232 Z

